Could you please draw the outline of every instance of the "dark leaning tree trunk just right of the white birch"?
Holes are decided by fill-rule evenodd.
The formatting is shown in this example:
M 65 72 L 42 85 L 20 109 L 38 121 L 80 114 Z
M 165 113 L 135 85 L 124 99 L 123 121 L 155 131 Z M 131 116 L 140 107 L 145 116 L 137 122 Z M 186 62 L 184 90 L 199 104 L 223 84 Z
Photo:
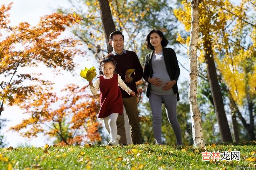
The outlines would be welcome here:
M 207 72 L 209 83 L 212 91 L 212 98 L 214 102 L 214 108 L 216 112 L 216 117 L 218 120 L 218 125 L 220 128 L 220 136 L 223 142 L 232 142 L 232 136 L 230 128 L 228 126 L 228 120 L 224 110 L 224 104 L 222 99 L 222 94 L 220 92 L 220 85 L 217 78 L 216 67 L 214 63 L 212 45 L 210 42 L 209 32 L 204 35 L 203 45 L 204 50 L 206 51 L 205 59 L 207 64 Z

